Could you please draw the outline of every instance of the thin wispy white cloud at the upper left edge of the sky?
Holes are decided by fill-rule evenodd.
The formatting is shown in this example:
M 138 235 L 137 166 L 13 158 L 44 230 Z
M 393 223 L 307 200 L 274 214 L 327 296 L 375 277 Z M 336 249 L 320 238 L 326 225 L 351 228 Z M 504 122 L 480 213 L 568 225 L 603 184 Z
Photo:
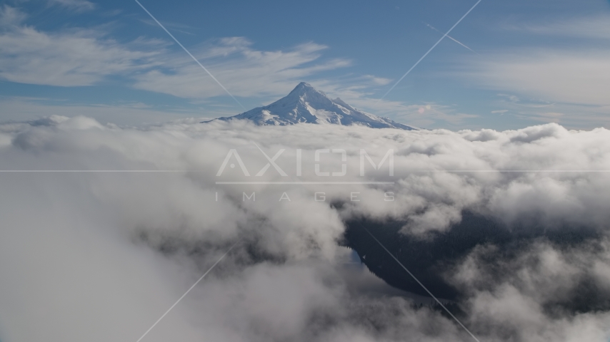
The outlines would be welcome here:
M 0 16 L 3 21 L 15 21 L 24 14 L 5 6 Z M 48 33 L 13 25 L 0 32 L 0 78 L 49 86 L 91 86 L 106 76 L 150 68 L 154 65 L 151 58 L 162 51 L 163 46 L 154 41 L 139 40 L 129 46 L 95 30 Z

